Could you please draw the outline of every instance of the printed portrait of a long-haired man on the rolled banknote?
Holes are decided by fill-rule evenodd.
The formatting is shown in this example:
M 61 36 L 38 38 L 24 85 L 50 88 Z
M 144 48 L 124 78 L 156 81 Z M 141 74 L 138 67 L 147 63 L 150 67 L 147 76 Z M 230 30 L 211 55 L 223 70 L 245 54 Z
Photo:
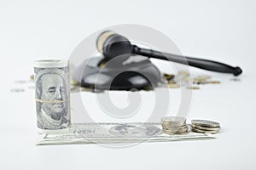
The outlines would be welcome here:
M 38 127 L 61 129 L 69 125 L 68 81 L 61 69 L 44 69 L 36 75 Z

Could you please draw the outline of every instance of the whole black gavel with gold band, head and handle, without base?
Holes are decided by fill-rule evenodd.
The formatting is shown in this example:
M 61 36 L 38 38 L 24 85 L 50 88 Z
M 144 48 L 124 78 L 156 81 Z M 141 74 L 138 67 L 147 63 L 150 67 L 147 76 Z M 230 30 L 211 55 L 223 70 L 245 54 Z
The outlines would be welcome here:
M 105 56 L 105 61 L 113 59 L 114 57 L 122 55 L 123 59 L 128 59 L 131 54 L 143 55 L 154 59 L 164 59 L 179 64 L 195 66 L 207 71 L 217 71 L 222 73 L 232 73 L 235 76 L 241 74 L 240 67 L 232 67 L 224 63 L 212 61 L 208 59 L 196 59 L 177 54 L 167 54 L 152 49 L 139 48 L 137 45 L 132 45 L 131 42 L 123 36 L 113 32 L 104 31 L 97 38 L 96 47 Z

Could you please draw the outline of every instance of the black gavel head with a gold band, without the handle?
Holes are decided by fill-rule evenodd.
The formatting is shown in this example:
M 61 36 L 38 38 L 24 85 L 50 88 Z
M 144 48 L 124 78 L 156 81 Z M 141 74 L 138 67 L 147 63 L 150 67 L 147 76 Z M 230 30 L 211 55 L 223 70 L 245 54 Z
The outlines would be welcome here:
M 133 50 L 131 42 L 126 37 L 113 31 L 103 31 L 96 40 L 96 47 L 107 60 L 121 57 L 120 61 L 124 61 L 130 57 Z

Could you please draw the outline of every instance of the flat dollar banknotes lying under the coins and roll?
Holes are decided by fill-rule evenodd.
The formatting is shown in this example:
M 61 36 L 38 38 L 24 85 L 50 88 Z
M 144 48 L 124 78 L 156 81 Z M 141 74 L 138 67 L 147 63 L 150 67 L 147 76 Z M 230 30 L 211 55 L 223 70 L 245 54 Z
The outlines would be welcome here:
M 168 142 L 198 139 L 214 139 L 214 137 L 194 132 L 169 135 L 162 132 L 158 122 L 74 123 L 68 133 L 41 134 L 38 145 Z

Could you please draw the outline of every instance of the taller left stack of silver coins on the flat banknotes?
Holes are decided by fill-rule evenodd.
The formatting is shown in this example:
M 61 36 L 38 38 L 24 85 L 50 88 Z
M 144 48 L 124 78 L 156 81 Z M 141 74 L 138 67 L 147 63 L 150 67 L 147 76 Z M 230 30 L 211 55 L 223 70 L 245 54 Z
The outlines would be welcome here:
M 185 134 L 189 128 L 186 119 L 180 116 L 166 116 L 161 119 L 163 132 L 166 134 Z

